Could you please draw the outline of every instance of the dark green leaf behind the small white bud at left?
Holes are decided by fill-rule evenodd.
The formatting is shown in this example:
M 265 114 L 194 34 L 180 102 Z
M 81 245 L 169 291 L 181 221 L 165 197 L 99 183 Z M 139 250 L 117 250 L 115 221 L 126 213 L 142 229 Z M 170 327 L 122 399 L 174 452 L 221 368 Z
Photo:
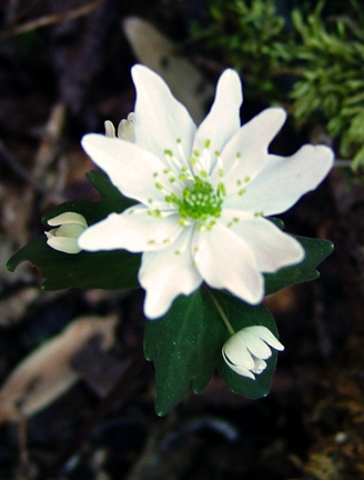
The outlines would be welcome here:
M 88 224 L 92 224 L 113 211 L 122 212 L 124 208 L 123 201 L 114 199 L 104 199 L 99 202 L 74 200 L 47 212 L 43 221 L 47 222 L 67 211 L 74 211 L 81 213 Z M 44 236 L 23 247 L 8 261 L 7 267 L 10 271 L 14 271 L 19 263 L 29 261 L 46 278 L 43 283 L 46 290 L 72 287 L 113 290 L 139 287 L 140 259 L 140 254 L 124 250 L 63 253 L 49 247 Z

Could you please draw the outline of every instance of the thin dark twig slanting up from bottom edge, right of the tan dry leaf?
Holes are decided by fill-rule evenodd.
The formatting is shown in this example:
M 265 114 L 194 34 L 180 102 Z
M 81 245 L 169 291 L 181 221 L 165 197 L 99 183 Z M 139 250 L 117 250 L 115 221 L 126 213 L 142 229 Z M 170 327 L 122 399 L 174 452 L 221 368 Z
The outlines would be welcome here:
M 115 400 L 125 400 L 135 387 L 135 377 L 142 366 L 144 364 L 144 356 L 142 347 L 139 346 L 138 350 L 127 367 L 120 380 L 110 390 L 108 396 L 101 401 L 99 407 L 91 412 L 89 418 L 84 421 L 83 426 L 78 430 L 68 442 L 65 449 L 53 461 L 43 474 L 37 477 L 36 480 L 49 480 L 55 477 L 57 472 L 64 466 L 64 463 L 80 449 L 93 427 L 104 417 Z

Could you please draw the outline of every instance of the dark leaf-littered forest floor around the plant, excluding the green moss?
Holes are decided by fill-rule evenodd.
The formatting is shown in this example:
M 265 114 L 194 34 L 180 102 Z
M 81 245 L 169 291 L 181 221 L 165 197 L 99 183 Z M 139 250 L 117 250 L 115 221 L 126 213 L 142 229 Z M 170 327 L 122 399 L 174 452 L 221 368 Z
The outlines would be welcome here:
M 94 166 L 80 139 L 133 110 L 130 68 L 138 59 L 122 20 L 146 17 L 180 40 L 203 8 L 193 0 L 9 0 L 0 7 L 1 382 L 74 319 L 105 317 L 110 323 L 102 333 L 108 351 L 88 330 L 67 367 L 60 353 L 37 370 L 46 376 L 38 384 L 42 409 L 22 410 L 31 382 L 21 392 L 14 387 L 12 404 L 0 392 L 2 480 L 364 479 L 360 174 L 335 168 L 282 217 L 287 231 L 328 239 L 335 251 L 318 268 L 320 279 L 266 298 L 285 351 L 264 399 L 233 394 L 216 374 L 202 394 L 191 393 L 159 418 L 153 366 L 138 357 L 145 322 L 141 291 L 47 292 L 29 264 L 14 273 L 6 269 L 14 252 L 43 234 L 44 211 L 97 199 L 84 177 Z M 39 19 L 47 26 L 40 28 Z M 212 84 L 225 67 L 216 64 L 204 71 Z M 244 106 L 244 121 L 264 107 Z M 291 154 L 307 137 L 289 123 L 272 149 Z M 63 393 L 53 394 L 52 381 L 62 374 Z M 110 394 L 122 376 L 123 388 Z

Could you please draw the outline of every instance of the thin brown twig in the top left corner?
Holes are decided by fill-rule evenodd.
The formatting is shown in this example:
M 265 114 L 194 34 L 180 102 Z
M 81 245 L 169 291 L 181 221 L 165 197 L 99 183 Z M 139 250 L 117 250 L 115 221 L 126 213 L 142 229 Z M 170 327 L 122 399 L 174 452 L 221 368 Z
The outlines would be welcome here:
M 18 27 L 12 27 L 10 30 L 1 33 L 0 38 L 14 37 L 20 33 L 26 33 L 43 27 L 48 27 L 53 23 L 61 23 L 69 20 L 74 20 L 79 17 L 84 17 L 91 13 L 94 9 L 97 9 L 102 2 L 104 2 L 104 0 L 93 0 L 92 2 L 87 3 L 85 6 L 74 10 L 68 10 L 65 12 L 40 17 L 37 20 L 31 20 Z

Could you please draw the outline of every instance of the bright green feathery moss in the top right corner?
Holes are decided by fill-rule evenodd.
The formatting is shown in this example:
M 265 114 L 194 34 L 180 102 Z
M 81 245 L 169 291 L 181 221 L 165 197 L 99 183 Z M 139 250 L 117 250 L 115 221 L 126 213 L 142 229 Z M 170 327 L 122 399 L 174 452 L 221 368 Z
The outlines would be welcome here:
M 194 24 L 192 38 L 241 72 L 249 96 L 285 103 L 299 127 L 325 126 L 356 168 L 364 164 L 364 6 L 303 7 L 281 14 L 276 0 L 212 0 L 210 26 Z

